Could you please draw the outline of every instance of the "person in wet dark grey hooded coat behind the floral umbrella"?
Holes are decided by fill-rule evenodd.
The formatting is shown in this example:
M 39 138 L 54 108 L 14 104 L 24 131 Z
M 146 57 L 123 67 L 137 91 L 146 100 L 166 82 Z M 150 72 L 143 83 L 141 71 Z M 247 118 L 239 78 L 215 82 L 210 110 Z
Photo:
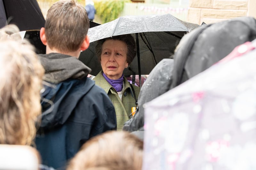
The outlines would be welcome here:
M 125 122 L 123 129 L 136 130 L 135 133 L 140 133 L 144 126 L 142 106 L 145 103 L 211 67 L 227 56 L 237 45 L 255 38 L 256 19 L 253 17 L 238 17 L 200 26 L 184 35 L 174 55 L 171 56 L 173 59 L 162 60 L 150 72 L 146 80 L 147 86 L 141 88 L 134 118 Z M 161 102 L 158 104 L 160 105 Z

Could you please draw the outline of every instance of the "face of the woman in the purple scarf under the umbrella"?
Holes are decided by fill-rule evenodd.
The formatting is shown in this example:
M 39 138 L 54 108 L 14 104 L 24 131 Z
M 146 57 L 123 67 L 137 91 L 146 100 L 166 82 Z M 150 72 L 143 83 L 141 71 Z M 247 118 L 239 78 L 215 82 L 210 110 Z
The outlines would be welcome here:
M 128 67 L 127 51 L 124 41 L 106 40 L 103 43 L 100 64 L 108 78 L 116 80 L 122 76 L 125 67 Z

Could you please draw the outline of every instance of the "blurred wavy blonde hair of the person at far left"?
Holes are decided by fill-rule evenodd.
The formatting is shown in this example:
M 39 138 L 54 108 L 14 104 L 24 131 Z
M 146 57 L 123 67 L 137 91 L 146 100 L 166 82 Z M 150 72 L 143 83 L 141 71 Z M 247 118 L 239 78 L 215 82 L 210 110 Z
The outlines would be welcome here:
M 43 66 L 28 41 L 2 37 L 0 68 L 0 144 L 30 145 L 41 114 Z

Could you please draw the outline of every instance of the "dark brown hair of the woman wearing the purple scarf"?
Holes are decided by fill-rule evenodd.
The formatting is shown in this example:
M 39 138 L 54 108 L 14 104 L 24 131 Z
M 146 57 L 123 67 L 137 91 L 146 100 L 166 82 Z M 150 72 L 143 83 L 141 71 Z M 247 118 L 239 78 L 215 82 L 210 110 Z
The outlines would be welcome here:
M 95 46 L 95 53 L 98 57 L 98 60 L 100 61 L 101 53 L 102 53 L 102 45 L 106 40 L 120 40 L 124 41 L 127 45 L 127 63 L 130 65 L 132 63 L 132 60 L 134 59 L 136 55 L 136 44 L 134 41 L 134 38 L 131 34 L 124 34 L 124 35 L 117 35 L 109 38 L 104 38 L 97 41 L 97 44 Z

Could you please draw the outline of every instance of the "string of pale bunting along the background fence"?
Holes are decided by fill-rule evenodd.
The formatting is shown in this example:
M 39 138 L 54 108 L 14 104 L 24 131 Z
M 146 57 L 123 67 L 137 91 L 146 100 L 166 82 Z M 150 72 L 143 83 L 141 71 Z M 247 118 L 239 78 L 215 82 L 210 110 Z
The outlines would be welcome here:
M 184 12 L 184 11 L 188 11 L 188 8 L 172 8 L 172 7 L 164 7 L 164 8 L 159 8 L 156 6 L 141 6 L 140 7 L 141 11 L 149 11 L 149 12 L 176 12 L 176 13 L 180 13 L 180 12 Z

